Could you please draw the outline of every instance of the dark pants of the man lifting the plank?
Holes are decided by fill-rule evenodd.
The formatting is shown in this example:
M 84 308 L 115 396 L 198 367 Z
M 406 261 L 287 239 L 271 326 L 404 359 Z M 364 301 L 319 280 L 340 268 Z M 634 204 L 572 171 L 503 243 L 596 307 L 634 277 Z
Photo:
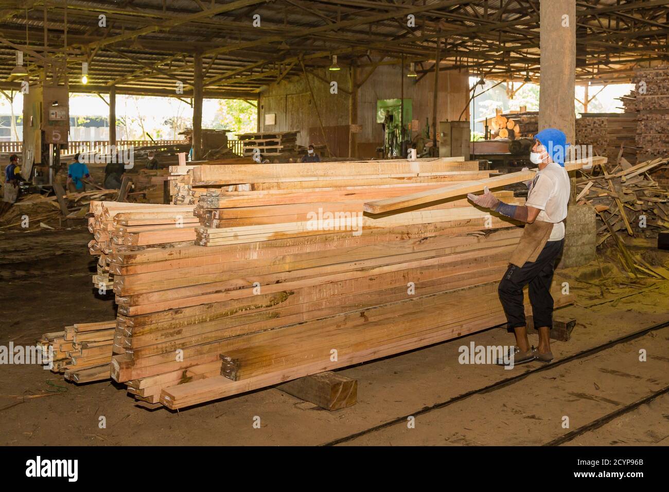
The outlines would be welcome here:
M 553 282 L 555 260 L 560 256 L 564 244 L 564 239 L 549 241 L 539 253 L 537 261 L 525 262 L 522 267 L 513 264 L 508 266 L 497 290 L 504 307 L 507 328 L 526 325 L 522 289 L 527 284 L 529 284 L 535 328 L 553 327 L 551 282 Z

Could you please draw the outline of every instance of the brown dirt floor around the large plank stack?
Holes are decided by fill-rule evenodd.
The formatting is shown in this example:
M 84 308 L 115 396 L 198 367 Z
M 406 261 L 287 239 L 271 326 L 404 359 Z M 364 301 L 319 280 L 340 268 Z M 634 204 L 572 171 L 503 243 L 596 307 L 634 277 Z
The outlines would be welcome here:
M 65 325 L 114 318 L 112 298 L 92 289 L 88 240 L 83 229 L 0 234 L 0 345 L 33 345 Z M 665 264 L 668 256 L 644 254 Z M 667 280 L 626 278 L 609 264 L 561 276 L 577 303 L 557 315 L 577 325 L 570 341 L 553 343 L 556 361 L 669 321 Z M 565 445 L 669 444 L 669 395 L 643 402 L 668 385 L 669 327 L 449 402 L 543 366 L 460 364 L 459 348 L 471 342 L 513 339 L 493 328 L 350 367 L 342 373 L 358 380 L 358 402 L 336 412 L 276 388 L 180 412 L 147 410 L 112 382 L 76 386 L 37 365 L 0 365 L 0 444 L 545 444 L 605 416 Z

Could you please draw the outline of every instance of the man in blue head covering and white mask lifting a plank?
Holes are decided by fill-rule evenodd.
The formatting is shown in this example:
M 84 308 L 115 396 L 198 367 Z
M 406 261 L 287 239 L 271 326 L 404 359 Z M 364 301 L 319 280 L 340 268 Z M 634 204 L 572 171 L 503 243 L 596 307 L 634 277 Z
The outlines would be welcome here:
M 550 343 L 553 297 L 550 289 L 555 262 L 565 242 L 564 220 L 570 193 L 569 175 L 565 170 L 568 146 L 567 137 L 558 129 L 545 129 L 535 135 L 530 160 L 539 166 L 539 170 L 529 184 L 524 205 L 504 203 L 488 188 L 482 195 L 467 195 L 478 206 L 525 223 L 520 242 L 498 288 L 506 326 L 516 335 L 516 347 L 510 364 L 506 365 L 553 359 Z M 536 349 L 527 339 L 522 289 L 528 284 L 534 326 L 539 331 L 539 347 Z

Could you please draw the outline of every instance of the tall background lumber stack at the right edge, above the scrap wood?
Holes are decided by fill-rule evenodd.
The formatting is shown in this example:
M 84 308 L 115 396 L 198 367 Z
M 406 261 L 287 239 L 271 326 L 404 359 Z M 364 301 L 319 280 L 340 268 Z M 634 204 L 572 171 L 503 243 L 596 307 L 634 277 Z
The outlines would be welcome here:
M 634 71 L 639 121 L 636 145 L 639 159 L 669 156 L 669 66 Z

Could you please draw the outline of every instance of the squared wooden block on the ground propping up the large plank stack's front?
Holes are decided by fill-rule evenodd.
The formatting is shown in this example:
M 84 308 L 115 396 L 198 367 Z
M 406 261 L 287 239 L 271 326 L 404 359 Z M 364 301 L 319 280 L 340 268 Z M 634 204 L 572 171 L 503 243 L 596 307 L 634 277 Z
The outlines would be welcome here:
M 358 396 L 358 380 L 332 371 L 305 376 L 276 388 L 330 411 L 355 405 Z

